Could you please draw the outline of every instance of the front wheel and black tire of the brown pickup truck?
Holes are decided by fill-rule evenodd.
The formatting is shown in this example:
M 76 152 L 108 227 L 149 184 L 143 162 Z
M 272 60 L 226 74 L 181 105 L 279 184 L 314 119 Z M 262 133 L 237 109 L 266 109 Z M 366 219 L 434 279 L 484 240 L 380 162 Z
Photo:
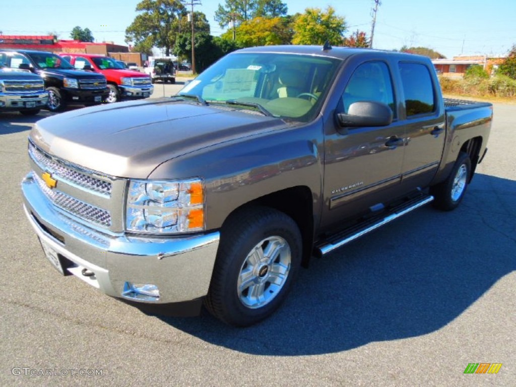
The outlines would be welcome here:
M 286 214 L 268 207 L 237 211 L 221 230 L 206 309 L 237 327 L 268 317 L 292 287 L 301 250 L 299 228 Z

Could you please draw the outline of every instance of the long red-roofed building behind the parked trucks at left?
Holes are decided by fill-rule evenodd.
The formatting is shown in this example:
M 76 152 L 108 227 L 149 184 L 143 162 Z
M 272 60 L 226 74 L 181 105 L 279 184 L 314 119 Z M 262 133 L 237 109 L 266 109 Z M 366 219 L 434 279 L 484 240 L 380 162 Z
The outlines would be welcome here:
M 53 53 L 84 53 L 101 54 L 114 57 L 126 62 L 135 62 L 142 65 L 140 53 L 130 53 L 129 47 L 113 42 L 81 42 L 80 40 L 57 40 L 52 35 L 29 36 L 29 35 L 0 35 L 0 50 L 38 50 L 50 51 Z

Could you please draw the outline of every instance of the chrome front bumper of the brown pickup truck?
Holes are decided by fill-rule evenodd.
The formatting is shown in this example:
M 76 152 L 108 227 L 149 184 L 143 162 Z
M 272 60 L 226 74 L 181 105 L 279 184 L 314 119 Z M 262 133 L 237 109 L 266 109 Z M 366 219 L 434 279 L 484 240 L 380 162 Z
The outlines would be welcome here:
M 101 233 L 56 209 L 32 173 L 23 180 L 22 191 L 25 214 L 38 237 L 71 264 L 68 272 L 101 292 L 152 303 L 191 301 L 207 294 L 219 232 L 170 238 Z M 159 297 L 134 297 L 127 283 L 153 284 Z

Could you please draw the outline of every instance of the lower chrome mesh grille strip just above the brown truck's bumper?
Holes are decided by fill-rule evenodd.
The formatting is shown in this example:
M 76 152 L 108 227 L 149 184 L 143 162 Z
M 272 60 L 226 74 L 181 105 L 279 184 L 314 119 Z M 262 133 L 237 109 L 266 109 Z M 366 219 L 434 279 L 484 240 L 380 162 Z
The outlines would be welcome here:
M 33 173 L 33 177 L 46 197 L 49 198 L 54 205 L 61 208 L 63 211 L 66 211 L 89 222 L 98 224 L 102 227 L 110 227 L 111 214 L 109 211 L 95 207 L 91 204 L 84 203 L 80 200 L 72 198 L 66 193 L 47 187 L 43 179 L 41 179 L 36 173 Z

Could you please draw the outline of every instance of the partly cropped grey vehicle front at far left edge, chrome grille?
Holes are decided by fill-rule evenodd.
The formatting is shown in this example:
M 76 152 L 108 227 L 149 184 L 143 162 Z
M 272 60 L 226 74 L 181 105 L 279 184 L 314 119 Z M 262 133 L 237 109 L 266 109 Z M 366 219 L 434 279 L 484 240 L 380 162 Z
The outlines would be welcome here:
M 25 116 L 34 116 L 48 99 L 43 78 L 28 70 L 7 68 L 0 62 L 0 112 L 18 110 Z

